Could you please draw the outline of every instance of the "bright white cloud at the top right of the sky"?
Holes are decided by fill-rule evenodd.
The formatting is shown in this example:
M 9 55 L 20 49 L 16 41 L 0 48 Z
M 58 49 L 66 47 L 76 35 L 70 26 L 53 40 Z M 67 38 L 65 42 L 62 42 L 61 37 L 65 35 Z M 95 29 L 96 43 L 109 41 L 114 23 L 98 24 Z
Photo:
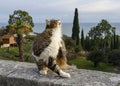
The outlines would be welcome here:
M 79 8 L 82 12 L 109 12 L 120 9 L 120 2 L 115 0 L 96 0 L 81 5 Z

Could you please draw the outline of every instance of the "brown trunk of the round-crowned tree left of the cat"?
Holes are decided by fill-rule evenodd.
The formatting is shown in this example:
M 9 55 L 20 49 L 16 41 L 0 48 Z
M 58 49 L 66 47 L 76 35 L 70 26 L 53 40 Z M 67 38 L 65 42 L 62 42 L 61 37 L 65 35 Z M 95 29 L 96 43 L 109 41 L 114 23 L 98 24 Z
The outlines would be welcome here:
M 22 34 L 17 34 L 18 36 L 18 48 L 19 48 L 19 58 L 23 60 L 23 36 Z

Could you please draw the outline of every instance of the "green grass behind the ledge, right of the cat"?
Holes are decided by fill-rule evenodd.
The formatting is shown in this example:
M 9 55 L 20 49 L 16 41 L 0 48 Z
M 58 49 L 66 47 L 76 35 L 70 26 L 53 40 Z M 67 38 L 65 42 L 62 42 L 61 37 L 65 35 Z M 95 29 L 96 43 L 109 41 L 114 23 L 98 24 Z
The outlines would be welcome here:
M 98 70 L 104 72 L 114 72 L 114 67 L 110 64 L 100 63 L 98 67 L 94 67 L 91 61 L 86 60 L 85 57 L 77 57 L 76 59 L 69 60 L 69 64 L 74 64 L 79 69 Z

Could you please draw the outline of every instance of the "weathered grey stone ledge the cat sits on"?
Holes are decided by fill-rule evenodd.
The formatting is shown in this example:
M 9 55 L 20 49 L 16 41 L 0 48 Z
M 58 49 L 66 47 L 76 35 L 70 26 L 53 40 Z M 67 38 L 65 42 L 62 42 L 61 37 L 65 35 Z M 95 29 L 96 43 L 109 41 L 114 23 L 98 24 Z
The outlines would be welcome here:
M 120 74 L 74 69 L 71 78 L 40 75 L 33 63 L 0 60 L 0 86 L 120 86 Z

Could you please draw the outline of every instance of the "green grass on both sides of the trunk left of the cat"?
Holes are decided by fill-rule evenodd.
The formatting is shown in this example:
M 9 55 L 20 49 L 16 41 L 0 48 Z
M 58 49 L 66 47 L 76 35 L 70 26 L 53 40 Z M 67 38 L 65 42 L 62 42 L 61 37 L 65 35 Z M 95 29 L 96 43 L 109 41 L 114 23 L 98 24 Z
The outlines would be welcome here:
M 24 49 L 24 61 L 25 62 L 34 62 L 31 58 L 31 43 L 24 43 L 23 49 Z M 0 59 L 2 60 L 14 60 L 14 61 L 20 61 L 18 57 L 18 47 L 10 47 L 9 51 L 8 48 L 0 48 Z

